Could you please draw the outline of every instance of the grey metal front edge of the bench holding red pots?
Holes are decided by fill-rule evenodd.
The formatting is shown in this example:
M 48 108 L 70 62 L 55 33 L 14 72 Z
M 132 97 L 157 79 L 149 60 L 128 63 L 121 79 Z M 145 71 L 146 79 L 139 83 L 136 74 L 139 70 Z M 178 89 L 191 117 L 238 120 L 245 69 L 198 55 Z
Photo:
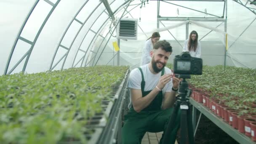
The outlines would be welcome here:
M 192 98 L 190 98 L 189 102 L 193 105 L 193 107 L 195 107 L 203 115 L 208 117 L 209 120 L 215 123 L 219 128 L 225 131 L 229 136 L 231 136 L 240 144 L 256 144 L 256 142 L 253 142 L 251 138 L 249 138 L 248 136 L 245 136 L 245 134 L 243 133 L 240 133 L 238 130 L 236 130 L 231 125 L 226 123 L 221 117 L 218 117 L 217 115 L 215 115 L 210 109 L 205 107 L 203 104 L 198 103 Z

